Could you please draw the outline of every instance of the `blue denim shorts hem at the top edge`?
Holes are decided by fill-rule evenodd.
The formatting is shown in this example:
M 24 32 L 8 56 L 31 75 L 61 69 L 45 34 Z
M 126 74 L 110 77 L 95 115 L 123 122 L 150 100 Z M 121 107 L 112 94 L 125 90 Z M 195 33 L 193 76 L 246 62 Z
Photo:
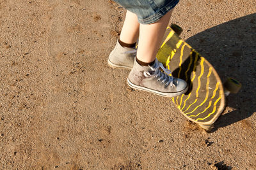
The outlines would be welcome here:
M 140 24 L 157 22 L 168 11 L 172 10 L 179 0 L 114 0 L 138 16 Z

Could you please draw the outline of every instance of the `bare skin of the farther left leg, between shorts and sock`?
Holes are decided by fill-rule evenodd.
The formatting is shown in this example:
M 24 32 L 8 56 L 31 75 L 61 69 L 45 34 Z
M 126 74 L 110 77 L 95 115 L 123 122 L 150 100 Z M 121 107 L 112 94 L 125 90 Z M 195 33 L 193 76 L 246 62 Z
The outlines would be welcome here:
M 139 28 L 140 24 L 137 15 L 131 11 L 127 11 L 120 40 L 127 44 L 136 43 L 139 36 Z

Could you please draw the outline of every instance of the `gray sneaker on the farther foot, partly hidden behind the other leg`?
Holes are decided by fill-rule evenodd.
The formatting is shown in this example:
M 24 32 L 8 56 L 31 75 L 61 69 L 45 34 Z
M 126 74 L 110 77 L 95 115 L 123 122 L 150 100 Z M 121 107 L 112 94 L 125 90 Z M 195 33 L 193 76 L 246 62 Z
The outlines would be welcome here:
M 108 57 L 108 64 L 114 68 L 132 69 L 137 50 L 135 48 L 127 48 L 116 43 L 114 50 Z

